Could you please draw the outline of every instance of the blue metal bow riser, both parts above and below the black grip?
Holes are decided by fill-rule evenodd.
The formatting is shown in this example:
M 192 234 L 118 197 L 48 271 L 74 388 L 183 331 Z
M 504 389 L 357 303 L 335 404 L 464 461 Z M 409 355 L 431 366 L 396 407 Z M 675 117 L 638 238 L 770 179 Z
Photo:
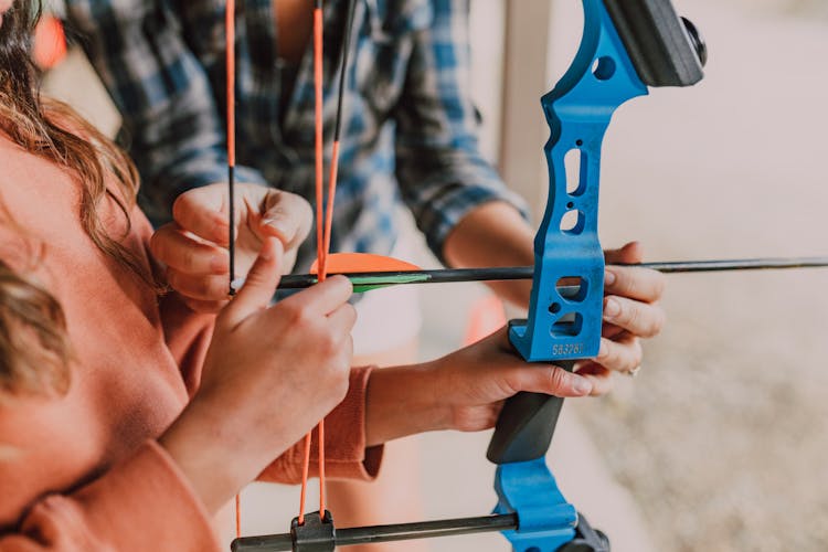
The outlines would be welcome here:
M 601 344 L 604 253 L 598 242 L 601 146 L 618 106 L 647 94 L 603 0 L 583 0 L 584 34 L 573 64 L 541 105 L 551 129 L 544 151 L 550 185 L 534 241 L 529 319 L 509 338 L 529 361 L 594 357 Z M 564 158 L 575 150 L 580 174 L 567 184 Z M 580 286 L 563 296 L 559 286 Z M 560 283 L 560 284 L 559 284 Z M 517 512 L 518 530 L 505 531 L 516 552 L 554 552 L 577 522 L 544 458 L 503 464 L 495 477 L 496 512 Z

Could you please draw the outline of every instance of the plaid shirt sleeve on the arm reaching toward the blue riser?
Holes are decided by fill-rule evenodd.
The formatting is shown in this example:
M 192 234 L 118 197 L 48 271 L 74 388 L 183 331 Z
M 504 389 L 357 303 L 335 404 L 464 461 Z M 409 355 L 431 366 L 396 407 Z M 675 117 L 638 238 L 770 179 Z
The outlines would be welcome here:
M 420 31 L 395 119 L 396 177 L 429 248 L 443 243 L 471 210 L 506 201 L 526 217 L 479 145 L 479 114 L 470 95 L 468 0 L 433 0 L 429 28 Z

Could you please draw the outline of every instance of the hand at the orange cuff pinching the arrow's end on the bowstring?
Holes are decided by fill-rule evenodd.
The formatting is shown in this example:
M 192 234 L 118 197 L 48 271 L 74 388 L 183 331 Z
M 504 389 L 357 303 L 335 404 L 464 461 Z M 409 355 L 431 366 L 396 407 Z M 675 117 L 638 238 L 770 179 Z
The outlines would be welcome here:
M 355 311 L 333 276 L 268 307 L 282 245 L 265 238 L 216 319 L 201 384 L 161 444 L 214 511 L 322 420 L 348 391 Z

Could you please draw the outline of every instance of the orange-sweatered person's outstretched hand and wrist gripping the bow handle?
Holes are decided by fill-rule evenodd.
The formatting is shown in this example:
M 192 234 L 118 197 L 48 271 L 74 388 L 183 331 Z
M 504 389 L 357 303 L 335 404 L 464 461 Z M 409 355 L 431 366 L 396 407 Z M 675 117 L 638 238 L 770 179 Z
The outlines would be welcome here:
M 371 373 L 365 432 L 369 445 L 437 429 L 477 432 L 495 426 L 503 402 L 520 391 L 576 397 L 595 390 L 551 363 L 528 363 L 506 329 L 416 367 Z

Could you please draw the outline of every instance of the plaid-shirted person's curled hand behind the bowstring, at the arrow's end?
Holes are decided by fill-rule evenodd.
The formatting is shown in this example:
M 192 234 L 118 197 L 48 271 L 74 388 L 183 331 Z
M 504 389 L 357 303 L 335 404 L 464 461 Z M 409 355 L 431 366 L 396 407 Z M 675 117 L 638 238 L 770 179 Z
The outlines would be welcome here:
M 285 250 L 283 274 L 312 222 L 302 198 L 256 184 L 237 184 L 235 276 L 243 278 L 265 237 L 276 237 Z M 215 312 L 227 302 L 230 289 L 227 187 L 210 184 L 189 190 L 172 205 L 173 222 L 158 229 L 150 241 L 152 255 L 167 266 L 167 283 L 190 308 Z

